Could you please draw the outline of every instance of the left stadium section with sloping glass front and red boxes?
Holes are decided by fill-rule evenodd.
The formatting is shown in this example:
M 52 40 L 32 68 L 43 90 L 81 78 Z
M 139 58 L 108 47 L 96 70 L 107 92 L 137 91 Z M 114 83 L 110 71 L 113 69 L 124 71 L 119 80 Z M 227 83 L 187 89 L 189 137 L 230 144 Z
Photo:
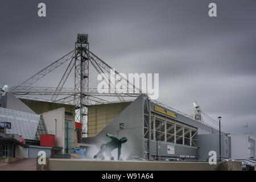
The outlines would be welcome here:
M 35 158 L 42 150 L 48 157 L 69 155 L 81 142 L 73 105 L 19 100 L 7 92 L 0 97 L 0 121 L 0 158 Z M 42 134 L 54 135 L 55 144 L 42 146 L 47 143 L 40 142 Z M 22 152 L 17 153 L 17 147 L 23 147 Z

